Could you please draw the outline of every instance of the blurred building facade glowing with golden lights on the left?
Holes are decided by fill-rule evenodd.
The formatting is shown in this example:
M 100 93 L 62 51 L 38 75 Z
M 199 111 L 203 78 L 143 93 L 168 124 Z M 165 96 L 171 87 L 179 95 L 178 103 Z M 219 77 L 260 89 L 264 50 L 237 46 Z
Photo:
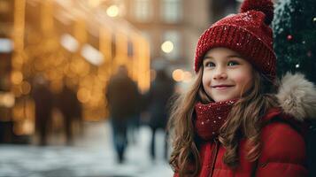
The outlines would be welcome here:
M 106 118 L 106 82 L 119 65 L 139 89 L 149 88 L 149 49 L 135 27 L 92 1 L 1 0 L 0 142 L 35 133 L 36 78 L 55 97 L 65 86 L 72 89 L 83 119 Z M 60 112 L 52 117 L 58 120 Z

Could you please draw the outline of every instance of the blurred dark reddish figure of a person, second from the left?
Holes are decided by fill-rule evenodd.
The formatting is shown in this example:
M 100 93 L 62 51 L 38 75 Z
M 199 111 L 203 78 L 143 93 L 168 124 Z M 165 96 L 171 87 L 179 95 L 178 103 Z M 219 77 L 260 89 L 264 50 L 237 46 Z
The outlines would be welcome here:
M 82 123 L 81 103 L 78 101 L 73 89 L 69 89 L 64 85 L 58 98 L 58 107 L 64 117 L 66 143 L 71 145 L 73 144 L 73 123 L 75 123 L 75 121 L 80 125 Z

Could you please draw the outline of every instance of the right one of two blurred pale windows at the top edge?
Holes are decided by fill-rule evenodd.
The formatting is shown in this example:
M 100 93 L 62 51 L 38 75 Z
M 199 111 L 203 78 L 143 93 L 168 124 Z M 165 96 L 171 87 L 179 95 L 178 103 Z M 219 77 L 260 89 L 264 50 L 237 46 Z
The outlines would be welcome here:
M 182 1 L 181 0 L 162 0 L 162 18 L 167 23 L 176 23 L 182 17 Z

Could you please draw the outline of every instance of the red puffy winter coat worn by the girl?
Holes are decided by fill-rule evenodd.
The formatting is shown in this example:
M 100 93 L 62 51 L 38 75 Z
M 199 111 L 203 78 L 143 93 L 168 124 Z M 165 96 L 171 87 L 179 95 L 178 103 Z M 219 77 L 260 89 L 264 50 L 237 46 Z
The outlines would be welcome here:
M 267 124 L 261 131 L 262 150 L 257 163 L 246 159 L 246 140 L 239 144 L 240 165 L 235 172 L 223 163 L 226 150 L 219 142 L 204 142 L 199 149 L 202 163 L 199 176 L 307 176 L 304 125 L 281 114 L 280 109 L 270 110 L 263 120 Z M 175 173 L 174 177 L 178 174 Z

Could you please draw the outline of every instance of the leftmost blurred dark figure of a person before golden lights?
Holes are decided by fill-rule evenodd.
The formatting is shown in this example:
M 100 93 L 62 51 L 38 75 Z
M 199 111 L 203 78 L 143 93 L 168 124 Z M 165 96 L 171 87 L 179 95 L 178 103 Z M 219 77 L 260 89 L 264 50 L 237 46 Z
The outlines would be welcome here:
M 35 134 L 39 135 L 40 145 L 47 145 L 47 135 L 51 124 L 54 101 L 48 81 L 42 76 L 35 77 L 32 97 L 35 100 Z

